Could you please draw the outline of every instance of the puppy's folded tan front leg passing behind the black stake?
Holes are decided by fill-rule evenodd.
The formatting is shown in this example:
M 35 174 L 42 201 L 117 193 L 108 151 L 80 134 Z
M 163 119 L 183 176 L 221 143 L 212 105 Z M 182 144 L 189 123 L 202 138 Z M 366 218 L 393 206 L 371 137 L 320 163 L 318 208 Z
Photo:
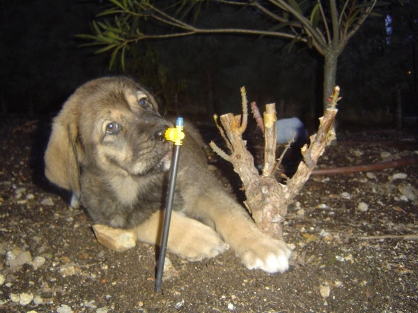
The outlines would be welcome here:
M 160 245 L 164 211 L 157 211 L 134 231 L 139 241 Z M 173 211 L 167 249 L 182 259 L 200 261 L 216 257 L 228 249 L 215 230 Z

